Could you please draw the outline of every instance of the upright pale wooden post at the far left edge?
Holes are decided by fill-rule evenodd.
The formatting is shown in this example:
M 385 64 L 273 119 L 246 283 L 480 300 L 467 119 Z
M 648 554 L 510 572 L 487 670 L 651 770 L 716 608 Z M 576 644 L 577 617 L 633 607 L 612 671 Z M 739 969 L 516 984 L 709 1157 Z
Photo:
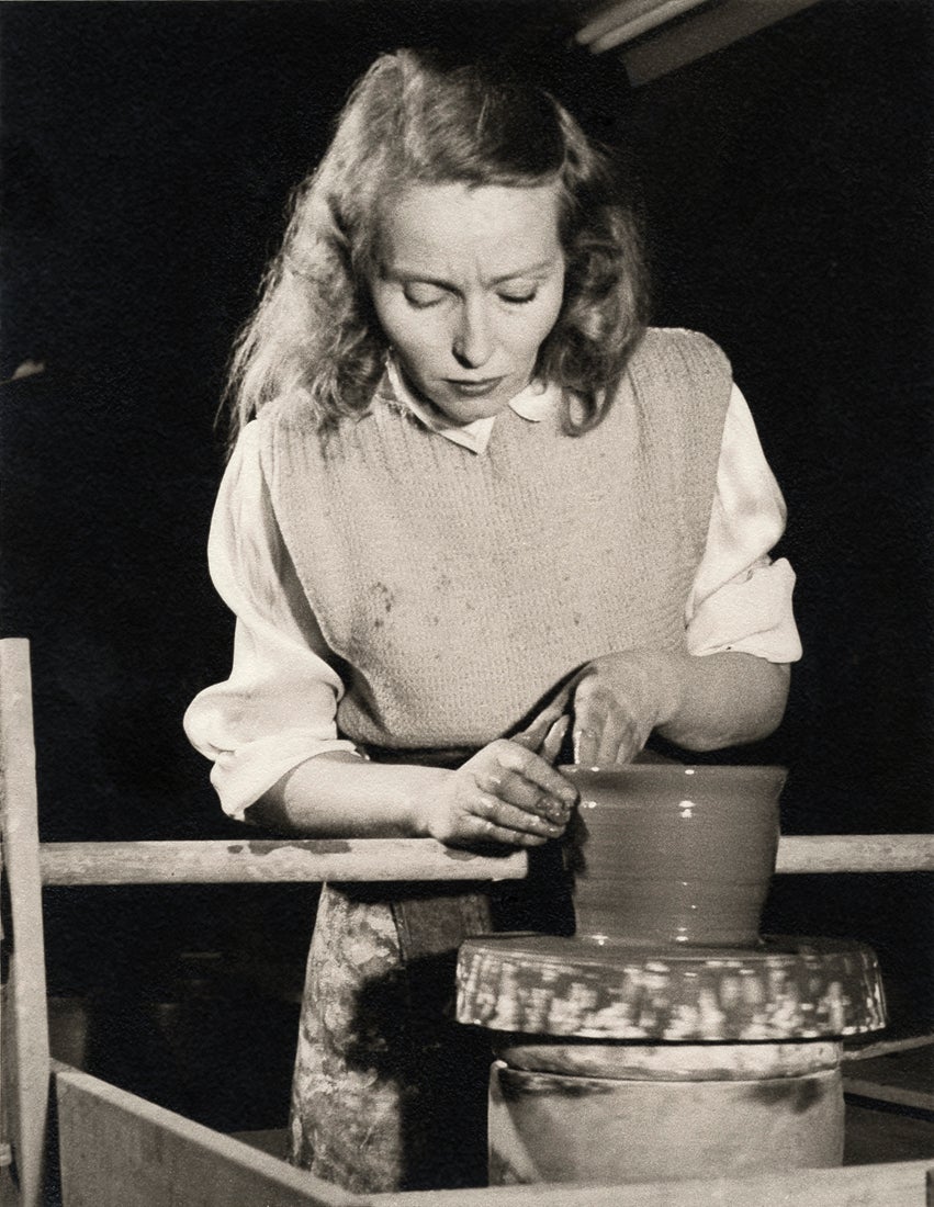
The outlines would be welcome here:
M 48 1014 L 29 643 L 21 639 L 0 641 L 0 836 L 12 916 L 0 1086 L 21 1207 L 39 1207 L 48 1118 Z

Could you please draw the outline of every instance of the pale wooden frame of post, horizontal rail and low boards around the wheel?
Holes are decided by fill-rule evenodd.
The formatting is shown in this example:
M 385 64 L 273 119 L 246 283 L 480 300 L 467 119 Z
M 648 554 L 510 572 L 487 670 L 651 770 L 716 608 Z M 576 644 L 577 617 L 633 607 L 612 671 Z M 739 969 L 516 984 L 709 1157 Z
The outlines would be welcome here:
M 29 646 L 18 639 L 0 641 L 0 870 L 10 905 L 7 933 L 2 935 L 7 966 L 0 999 L 0 1203 L 761 1207 L 781 1202 L 786 1207 L 921 1207 L 932 1201 L 926 1188 L 930 1184 L 934 1194 L 934 1159 L 702 1182 L 350 1194 L 243 1141 L 53 1062 L 48 1050 L 42 886 L 326 879 L 489 881 L 521 877 L 524 856 L 453 855 L 427 839 L 40 845 Z M 847 835 L 783 839 L 777 870 L 887 873 L 932 868 L 932 835 Z

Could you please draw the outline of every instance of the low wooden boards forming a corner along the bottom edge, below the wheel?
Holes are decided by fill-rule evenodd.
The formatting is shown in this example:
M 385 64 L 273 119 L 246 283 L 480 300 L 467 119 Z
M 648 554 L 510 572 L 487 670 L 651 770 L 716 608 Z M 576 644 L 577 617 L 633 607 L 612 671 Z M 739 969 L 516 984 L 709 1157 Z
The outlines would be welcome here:
M 66 1207 L 923 1207 L 932 1161 L 713 1182 L 354 1195 L 87 1073 L 59 1069 Z

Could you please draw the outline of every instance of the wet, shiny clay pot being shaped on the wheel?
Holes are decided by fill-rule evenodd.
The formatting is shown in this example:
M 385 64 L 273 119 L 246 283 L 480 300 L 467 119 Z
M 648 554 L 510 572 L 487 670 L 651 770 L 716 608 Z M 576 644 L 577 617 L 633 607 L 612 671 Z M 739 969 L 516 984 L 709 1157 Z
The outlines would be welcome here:
M 565 766 L 577 937 L 746 947 L 778 847 L 778 766 Z

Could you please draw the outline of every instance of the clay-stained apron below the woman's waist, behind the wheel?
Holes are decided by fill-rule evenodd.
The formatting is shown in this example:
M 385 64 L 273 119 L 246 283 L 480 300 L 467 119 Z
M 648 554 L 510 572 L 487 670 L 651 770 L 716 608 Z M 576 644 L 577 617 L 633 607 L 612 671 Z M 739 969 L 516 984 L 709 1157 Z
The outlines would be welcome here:
M 472 934 L 573 934 L 561 845 L 526 880 L 325 885 L 302 999 L 290 1160 L 346 1190 L 488 1184 L 490 1038 L 455 1021 Z

